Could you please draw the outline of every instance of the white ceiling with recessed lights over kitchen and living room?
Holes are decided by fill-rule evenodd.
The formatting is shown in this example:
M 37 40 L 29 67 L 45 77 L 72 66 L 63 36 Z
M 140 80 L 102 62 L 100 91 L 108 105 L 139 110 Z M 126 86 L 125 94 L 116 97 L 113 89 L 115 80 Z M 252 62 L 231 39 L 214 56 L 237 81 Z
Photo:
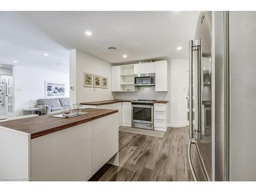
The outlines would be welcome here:
M 188 40 L 194 38 L 199 12 L 61 11 L 0 15 L 0 63 L 14 64 L 13 60 L 18 60 L 20 65 L 63 71 L 68 66 L 67 50 L 72 49 L 111 63 L 187 59 Z M 87 30 L 92 32 L 91 36 L 84 34 Z M 109 46 L 117 50 L 110 51 Z

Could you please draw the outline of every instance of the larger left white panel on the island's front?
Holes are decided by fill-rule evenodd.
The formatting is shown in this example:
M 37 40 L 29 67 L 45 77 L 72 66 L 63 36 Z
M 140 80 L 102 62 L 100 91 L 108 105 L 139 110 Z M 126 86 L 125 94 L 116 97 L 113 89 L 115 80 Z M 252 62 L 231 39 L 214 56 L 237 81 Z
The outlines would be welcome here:
M 92 138 L 90 121 L 31 139 L 31 177 L 34 181 L 89 180 L 93 166 Z

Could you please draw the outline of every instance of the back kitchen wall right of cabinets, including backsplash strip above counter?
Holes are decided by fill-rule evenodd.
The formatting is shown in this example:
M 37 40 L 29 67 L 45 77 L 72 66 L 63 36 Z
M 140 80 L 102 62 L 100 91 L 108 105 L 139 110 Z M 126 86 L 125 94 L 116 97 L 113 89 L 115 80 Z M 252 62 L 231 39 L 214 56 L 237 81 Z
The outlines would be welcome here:
M 168 103 L 168 126 L 186 126 L 186 71 L 188 60 L 168 60 L 168 92 L 155 92 L 155 87 L 139 87 L 138 92 L 113 92 L 114 99 L 156 99 Z M 184 91 L 185 88 L 185 91 Z

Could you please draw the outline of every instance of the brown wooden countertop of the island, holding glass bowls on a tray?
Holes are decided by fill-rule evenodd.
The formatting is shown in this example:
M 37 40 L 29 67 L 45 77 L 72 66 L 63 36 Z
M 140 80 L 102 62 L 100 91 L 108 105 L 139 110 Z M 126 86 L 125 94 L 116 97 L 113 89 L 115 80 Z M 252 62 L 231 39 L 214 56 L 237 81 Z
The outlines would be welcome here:
M 38 117 L 0 122 L 0 126 L 31 134 L 31 139 L 34 139 L 43 135 L 67 129 L 75 125 L 86 123 L 94 119 L 118 113 L 118 110 L 87 108 L 83 109 L 82 112 L 87 112 L 90 114 L 80 115 L 68 119 L 50 117 L 51 115 L 56 114 L 42 115 Z

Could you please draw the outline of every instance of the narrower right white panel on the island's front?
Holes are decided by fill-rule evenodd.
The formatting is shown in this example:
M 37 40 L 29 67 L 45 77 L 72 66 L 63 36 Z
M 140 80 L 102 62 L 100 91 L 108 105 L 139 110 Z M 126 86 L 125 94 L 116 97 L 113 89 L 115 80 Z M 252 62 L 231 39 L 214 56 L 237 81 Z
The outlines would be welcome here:
M 118 152 L 118 114 L 93 121 L 93 175 Z

